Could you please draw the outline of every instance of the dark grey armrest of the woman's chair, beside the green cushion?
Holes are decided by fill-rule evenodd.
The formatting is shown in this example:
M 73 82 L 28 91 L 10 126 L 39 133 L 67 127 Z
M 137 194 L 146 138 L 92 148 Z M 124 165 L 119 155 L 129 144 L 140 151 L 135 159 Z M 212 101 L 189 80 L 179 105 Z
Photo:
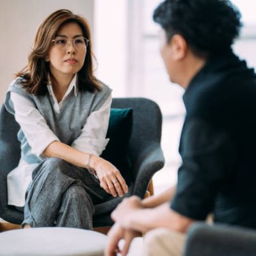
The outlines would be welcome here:
M 132 194 L 143 198 L 154 173 L 161 170 L 163 166 L 164 156 L 159 143 L 151 143 L 144 148 L 134 164 L 134 176 L 136 176 L 136 179 Z

